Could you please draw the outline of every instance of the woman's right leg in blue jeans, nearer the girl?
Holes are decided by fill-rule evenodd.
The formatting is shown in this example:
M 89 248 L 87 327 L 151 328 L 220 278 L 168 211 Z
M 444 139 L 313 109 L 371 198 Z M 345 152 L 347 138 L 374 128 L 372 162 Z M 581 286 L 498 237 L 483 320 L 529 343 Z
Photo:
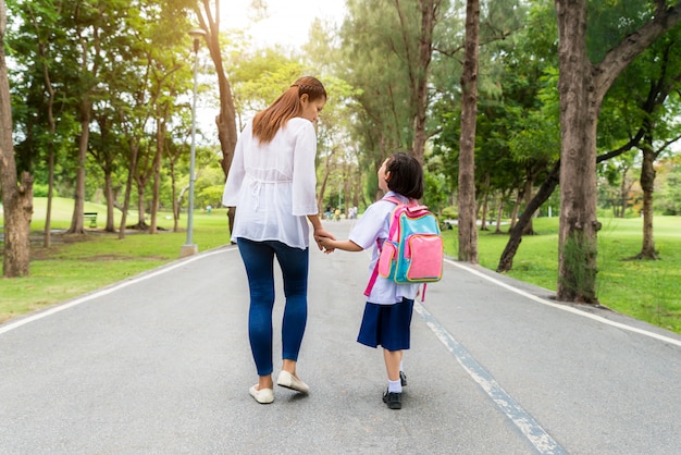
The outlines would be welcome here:
M 292 248 L 277 243 L 276 259 L 284 278 L 284 321 L 282 322 L 283 369 L 296 376 L 296 362 L 308 319 L 309 249 Z

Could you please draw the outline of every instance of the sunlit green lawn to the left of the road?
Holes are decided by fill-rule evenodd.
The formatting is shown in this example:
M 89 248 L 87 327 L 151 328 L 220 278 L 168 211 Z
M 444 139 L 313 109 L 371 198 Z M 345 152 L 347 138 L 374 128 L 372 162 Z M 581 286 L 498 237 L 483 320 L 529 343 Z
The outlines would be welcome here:
M 52 204 L 52 229 L 65 230 L 71 223 L 73 200 L 57 198 Z M 51 247 L 46 249 L 42 247 L 45 207 L 45 198 L 34 200 L 30 275 L 0 278 L 0 322 L 176 260 L 187 238 L 186 220 L 179 223 L 183 231 L 175 233 L 172 232 L 173 221 L 165 218 L 168 213 L 162 213 L 158 224 L 164 231 L 160 234 L 128 231 L 121 241 L 117 234 L 102 233 L 106 207 L 86 204 L 85 211 L 99 213 L 99 229 L 89 230 L 86 222 L 88 235 L 55 234 Z M 119 222 L 116 218 L 116 228 Z M 137 213 L 127 217 L 128 225 L 136 222 Z M 211 214 L 197 211 L 194 224 L 193 243 L 199 245 L 201 251 L 230 242 L 226 210 L 213 210 Z M 0 261 L 0 270 L 1 266 Z

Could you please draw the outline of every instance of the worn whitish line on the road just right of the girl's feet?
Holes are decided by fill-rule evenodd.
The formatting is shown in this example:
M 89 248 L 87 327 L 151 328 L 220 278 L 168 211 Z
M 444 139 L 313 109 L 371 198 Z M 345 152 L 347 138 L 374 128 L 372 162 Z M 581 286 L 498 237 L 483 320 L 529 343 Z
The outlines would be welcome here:
M 530 441 L 537 453 L 542 455 L 567 454 L 534 418 L 528 414 L 484 369 L 473 356 L 458 342 L 442 324 L 426 310 L 423 305 L 416 303 L 413 308 L 447 347 L 468 374 L 494 401 L 497 407 L 508 417 L 520 432 Z

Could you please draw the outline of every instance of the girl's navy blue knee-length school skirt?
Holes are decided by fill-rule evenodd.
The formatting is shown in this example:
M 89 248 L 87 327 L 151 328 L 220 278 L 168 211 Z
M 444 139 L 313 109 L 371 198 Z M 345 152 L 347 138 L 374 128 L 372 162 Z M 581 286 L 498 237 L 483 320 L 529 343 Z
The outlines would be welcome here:
M 387 351 L 409 349 L 413 300 L 404 298 L 395 305 L 367 302 L 357 342 L 369 347 L 383 346 Z

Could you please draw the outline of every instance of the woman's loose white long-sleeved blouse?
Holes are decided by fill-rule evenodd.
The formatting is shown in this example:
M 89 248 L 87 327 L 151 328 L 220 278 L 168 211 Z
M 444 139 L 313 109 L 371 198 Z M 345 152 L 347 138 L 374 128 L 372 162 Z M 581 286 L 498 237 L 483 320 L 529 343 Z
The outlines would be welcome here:
M 248 122 L 242 132 L 222 204 L 236 207 L 232 241 L 278 241 L 309 246 L 308 214 L 317 214 L 317 133 L 312 122 L 290 119 L 272 142 L 260 144 Z

